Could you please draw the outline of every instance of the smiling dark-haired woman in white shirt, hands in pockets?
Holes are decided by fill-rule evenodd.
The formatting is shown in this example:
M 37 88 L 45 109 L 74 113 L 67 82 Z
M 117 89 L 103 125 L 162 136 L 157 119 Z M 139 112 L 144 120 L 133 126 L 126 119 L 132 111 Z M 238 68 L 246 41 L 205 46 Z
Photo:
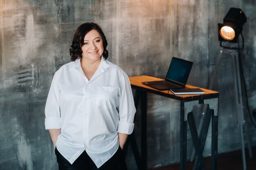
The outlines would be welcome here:
M 107 45 L 99 25 L 80 25 L 70 49 L 72 62 L 53 77 L 45 129 L 59 170 L 126 169 L 122 149 L 136 110 L 128 76 L 106 60 Z

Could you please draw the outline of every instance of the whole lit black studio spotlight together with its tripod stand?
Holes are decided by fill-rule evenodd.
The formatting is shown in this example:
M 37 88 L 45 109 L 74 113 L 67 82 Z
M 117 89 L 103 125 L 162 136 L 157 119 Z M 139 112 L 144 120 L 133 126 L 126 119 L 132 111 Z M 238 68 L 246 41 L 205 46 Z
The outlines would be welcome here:
M 241 145 L 242 145 L 242 160 L 243 160 L 243 170 L 246 170 L 246 160 L 245 160 L 245 141 L 244 141 L 244 128 L 246 129 L 245 135 L 247 135 L 247 144 L 249 150 L 249 157 L 252 157 L 252 144 L 251 144 L 251 136 L 249 135 L 247 119 L 245 119 L 245 113 L 249 113 L 249 117 L 252 120 L 252 116 L 249 110 L 248 98 L 247 98 L 247 90 L 245 84 L 245 75 L 243 72 L 243 62 L 241 57 L 241 49 L 244 48 L 244 37 L 243 37 L 243 25 L 247 22 L 247 18 L 245 13 L 239 8 L 230 8 L 225 18 L 223 19 L 223 24 L 218 24 L 218 37 L 220 41 L 220 46 L 222 46 L 222 42 L 226 42 L 226 44 L 236 43 L 238 47 L 233 47 L 231 44 L 229 46 L 222 46 L 224 48 L 221 49 L 220 55 L 217 59 L 217 64 L 215 71 L 213 73 L 213 79 L 216 76 L 218 66 L 220 65 L 220 59 L 223 54 L 230 55 L 232 58 L 232 68 L 233 68 L 233 82 L 234 82 L 234 90 L 235 90 L 235 100 L 236 100 L 236 113 L 238 117 L 238 124 L 240 128 L 241 135 Z M 242 47 L 240 47 L 239 43 L 239 35 L 242 37 Z M 213 84 L 214 81 L 212 81 Z M 211 84 L 211 86 L 212 86 Z M 252 121 L 254 124 L 254 121 Z

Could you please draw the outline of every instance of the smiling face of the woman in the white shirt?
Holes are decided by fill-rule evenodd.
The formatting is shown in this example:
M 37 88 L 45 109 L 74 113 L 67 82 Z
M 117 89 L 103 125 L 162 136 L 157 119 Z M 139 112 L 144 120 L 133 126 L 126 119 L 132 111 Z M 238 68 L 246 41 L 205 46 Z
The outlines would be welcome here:
M 90 62 L 97 61 L 104 51 L 103 41 L 99 32 L 95 29 L 89 31 L 84 37 L 81 49 L 83 51 L 83 60 L 88 60 Z

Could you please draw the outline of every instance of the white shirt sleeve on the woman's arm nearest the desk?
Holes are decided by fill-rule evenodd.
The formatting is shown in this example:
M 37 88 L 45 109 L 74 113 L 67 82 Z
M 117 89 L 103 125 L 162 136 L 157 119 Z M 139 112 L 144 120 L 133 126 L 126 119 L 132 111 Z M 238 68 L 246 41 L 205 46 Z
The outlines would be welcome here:
M 134 128 L 133 119 L 136 113 L 132 89 L 129 78 L 123 71 L 119 81 L 119 124 L 117 131 L 130 135 Z

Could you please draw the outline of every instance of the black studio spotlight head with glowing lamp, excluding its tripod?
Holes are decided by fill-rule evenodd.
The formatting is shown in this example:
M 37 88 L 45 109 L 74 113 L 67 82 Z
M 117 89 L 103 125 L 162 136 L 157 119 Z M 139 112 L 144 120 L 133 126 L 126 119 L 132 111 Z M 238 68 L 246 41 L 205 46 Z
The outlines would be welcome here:
M 230 8 L 227 15 L 223 19 L 223 24 L 218 24 L 218 35 L 219 35 L 219 41 L 220 46 L 222 46 L 222 42 L 231 42 L 231 43 L 237 43 L 238 42 L 238 48 L 239 48 L 239 39 L 238 36 L 241 35 L 243 39 L 243 45 L 244 46 L 244 38 L 242 34 L 243 30 L 243 24 L 247 22 L 247 18 L 245 16 L 245 13 L 239 8 Z M 222 46 L 229 49 L 234 49 L 227 46 Z

